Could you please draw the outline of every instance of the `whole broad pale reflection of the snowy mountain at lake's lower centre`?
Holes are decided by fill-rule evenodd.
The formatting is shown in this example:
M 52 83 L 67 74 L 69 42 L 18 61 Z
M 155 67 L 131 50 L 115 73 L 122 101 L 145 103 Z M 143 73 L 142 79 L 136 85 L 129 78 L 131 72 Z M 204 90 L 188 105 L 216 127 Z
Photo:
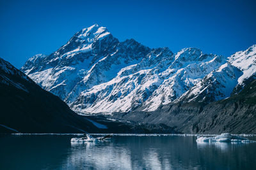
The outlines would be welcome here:
M 73 143 L 70 155 L 62 167 L 77 169 L 81 165 L 85 169 L 172 169 L 170 161 L 162 158 L 156 148 L 148 148 L 139 153 L 138 150 L 131 151 L 129 146 L 115 145 L 111 142 Z

